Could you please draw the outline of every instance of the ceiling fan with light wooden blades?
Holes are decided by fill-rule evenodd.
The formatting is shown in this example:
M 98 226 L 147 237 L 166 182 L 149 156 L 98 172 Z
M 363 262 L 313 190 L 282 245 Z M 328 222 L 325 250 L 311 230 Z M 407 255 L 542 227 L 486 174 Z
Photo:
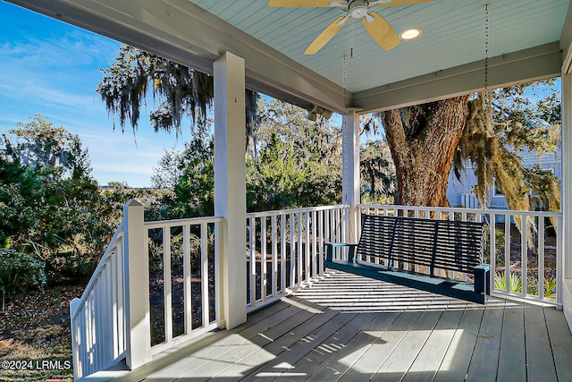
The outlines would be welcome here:
M 305 7 L 305 8 L 341 8 L 347 12 L 345 16 L 340 16 L 334 20 L 328 27 L 315 38 L 314 41 L 304 51 L 305 55 L 314 55 L 324 45 L 328 43 L 338 31 L 341 30 L 350 18 L 361 19 L 367 33 L 374 41 L 384 50 L 390 50 L 400 45 L 400 37 L 391 27 L 390 23 L 383 19 L 379 13 L 369 12 L 374 5 L 380 6 L 396 6 L 411 5 L 420 3 L 429 3 L 436 0 L 348 0 L 348 1 L 330 1 L 330 0 L 268 0 L 269 6 L 279 7 Z

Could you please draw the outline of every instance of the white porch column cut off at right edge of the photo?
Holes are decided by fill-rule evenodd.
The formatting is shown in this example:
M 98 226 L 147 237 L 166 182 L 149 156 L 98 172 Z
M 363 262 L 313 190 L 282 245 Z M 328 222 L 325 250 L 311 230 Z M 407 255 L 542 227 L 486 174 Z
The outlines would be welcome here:
M 564 264 L 562 305 L 572 328 L 572 73 L 562 73 L 562 215 Z

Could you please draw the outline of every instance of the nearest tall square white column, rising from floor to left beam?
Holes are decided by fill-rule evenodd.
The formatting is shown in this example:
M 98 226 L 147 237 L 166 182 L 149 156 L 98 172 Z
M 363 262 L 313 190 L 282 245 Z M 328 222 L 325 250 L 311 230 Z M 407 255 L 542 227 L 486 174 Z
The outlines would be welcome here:
M 214 215 L 220 245 L 222 318 L 247 320 L 244 59 L 229 52 L 214 62 Z

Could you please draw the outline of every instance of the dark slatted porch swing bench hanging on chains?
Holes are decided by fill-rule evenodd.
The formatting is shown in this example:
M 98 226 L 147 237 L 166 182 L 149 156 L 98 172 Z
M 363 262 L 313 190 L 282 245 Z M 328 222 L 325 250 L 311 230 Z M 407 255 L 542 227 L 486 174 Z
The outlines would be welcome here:
M 488 34 L 489 10 L 485 5 L 485 94 Z M 353 55 L 352 48 L 350 52 Z M 343 76 L 345 94 L 345 56 Z M 344 103 L 347 109 L 345 97 Z M 484 237 L 484 222 L 362 215 L 359 242 L 325 243 L 324 267 L 484 304 L 491 294 L 491 266 L 483 264 Z M 347 259 L 334 257 L 336 249 L 340 252 L 344 248 L 348 249 Z M 447 276 L 442 276 L 443 272 Z

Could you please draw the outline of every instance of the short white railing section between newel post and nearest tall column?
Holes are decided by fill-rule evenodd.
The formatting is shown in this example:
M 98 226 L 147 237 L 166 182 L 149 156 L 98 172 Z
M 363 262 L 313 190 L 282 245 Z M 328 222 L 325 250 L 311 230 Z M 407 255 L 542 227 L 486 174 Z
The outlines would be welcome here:
M 146 222 L 151 356 L 219 326 L 222 217 Z

